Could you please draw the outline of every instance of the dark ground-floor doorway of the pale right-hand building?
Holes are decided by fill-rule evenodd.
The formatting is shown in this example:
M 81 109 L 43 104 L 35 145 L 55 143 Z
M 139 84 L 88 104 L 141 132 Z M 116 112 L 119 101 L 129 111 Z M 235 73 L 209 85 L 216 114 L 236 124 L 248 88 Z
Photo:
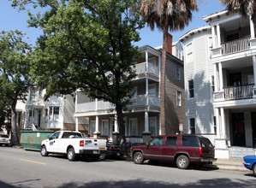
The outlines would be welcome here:
M 232 127 L 233 127 L 233 145 L 246 146 L 244 114 L 232 114 Z

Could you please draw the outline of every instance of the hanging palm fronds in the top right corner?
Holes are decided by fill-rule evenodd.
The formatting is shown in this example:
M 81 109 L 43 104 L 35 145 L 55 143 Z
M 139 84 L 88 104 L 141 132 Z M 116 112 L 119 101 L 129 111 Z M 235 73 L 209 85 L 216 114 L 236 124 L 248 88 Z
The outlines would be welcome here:
M 253 15 L 256 10 L 255 0 L 219 0 L 220 3 L 227 6 L 227 9 L 231 12 L 239 11 L 241 15 L 247 16 L 247 14 Z

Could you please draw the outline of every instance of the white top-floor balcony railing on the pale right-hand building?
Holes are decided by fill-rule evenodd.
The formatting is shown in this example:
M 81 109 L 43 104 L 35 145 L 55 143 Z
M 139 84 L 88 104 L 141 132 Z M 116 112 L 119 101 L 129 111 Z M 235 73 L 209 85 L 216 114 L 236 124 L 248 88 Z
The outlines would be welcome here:
M 250 49 L 250 38 L 241 38 L 222 44 L 223 55 Z

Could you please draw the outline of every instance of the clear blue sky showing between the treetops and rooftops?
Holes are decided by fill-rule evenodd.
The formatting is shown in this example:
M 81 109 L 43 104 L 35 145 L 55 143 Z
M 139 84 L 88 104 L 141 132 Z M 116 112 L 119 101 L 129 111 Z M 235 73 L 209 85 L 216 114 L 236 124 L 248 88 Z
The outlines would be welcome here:
M 39 29 L 27 27 L 27 11 L 18 11 L 10 6 L 11 2 L 9 0 L 1 0 L 0 3 L 0 31 L 5 30 L 15 30 L 19 29 L 22 32 L 27 33 L 28 39 L 26 42 L 34 44 L 36 38 L 42 33 Z M 193 19 L 190 21 L 189 25 L 186 26 L 182 31 L 170 32 L 173 36 L 173 42 L 179 40 L 179 38 L 186 32 L 195 29 L 199 26 L 207 25 L 203 21 L 203 16 L 211 15 L 212 13 L 218 12 L 225 9 L 218 0 L 201 0 L 198 3 L 199 11 L 193 12 Z M 135 43 L 135 45 L 144 46 L 150 45 L 152 47 L 158 47 L 163 44 L 163 32 L 155 28 L 154 31 L 146 25 L 145 28 L 140 30 L 140 42 Z

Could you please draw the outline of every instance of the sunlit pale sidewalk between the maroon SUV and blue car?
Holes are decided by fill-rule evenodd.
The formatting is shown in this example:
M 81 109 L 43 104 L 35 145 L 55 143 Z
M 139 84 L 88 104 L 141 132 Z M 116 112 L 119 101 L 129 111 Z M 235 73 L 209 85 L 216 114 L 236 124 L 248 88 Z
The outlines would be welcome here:
M 243 166 L 242 158 L 230 158 L 230 159 L 217 159 L 216 162 L 212 163 L 211 167 L 216 167 L 220 170 L 229 170 L 243 173 L 253 173 Z

